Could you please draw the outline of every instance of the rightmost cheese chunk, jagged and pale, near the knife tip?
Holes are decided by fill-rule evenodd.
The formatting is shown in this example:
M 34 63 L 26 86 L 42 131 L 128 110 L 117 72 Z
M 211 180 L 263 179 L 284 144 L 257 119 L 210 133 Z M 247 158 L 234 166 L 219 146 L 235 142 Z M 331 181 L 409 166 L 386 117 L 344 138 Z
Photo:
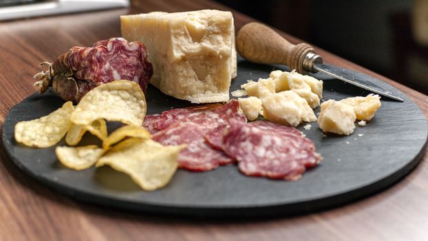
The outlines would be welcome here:
M 370 121 L 379 107 L 381 107 L 381 97 L 377 94 L 369 94 L 365 97 L 345 98 L 341 100 L 341 103 L 352 106 L 358 120 Z

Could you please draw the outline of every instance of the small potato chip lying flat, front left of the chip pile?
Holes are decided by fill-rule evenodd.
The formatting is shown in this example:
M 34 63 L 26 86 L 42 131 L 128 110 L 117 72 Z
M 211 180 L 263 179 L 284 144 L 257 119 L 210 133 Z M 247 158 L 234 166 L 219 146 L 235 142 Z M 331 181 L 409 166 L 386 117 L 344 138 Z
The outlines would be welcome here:
M 58 160 L 65 165 L 65 167 L 75 170 L 83 170 L 92 167 L 103 153 L 103 148 L 98 148 L 96 145 L 55 148 L 55 154 Z

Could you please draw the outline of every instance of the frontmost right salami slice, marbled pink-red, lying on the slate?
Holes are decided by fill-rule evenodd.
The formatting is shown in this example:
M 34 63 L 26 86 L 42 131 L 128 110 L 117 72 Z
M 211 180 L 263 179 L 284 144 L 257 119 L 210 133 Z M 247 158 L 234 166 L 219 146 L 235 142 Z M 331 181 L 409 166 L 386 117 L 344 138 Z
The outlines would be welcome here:
M 287 134 L 290 130 L 282 125 L 273 132 L 268 125 L 231 122 L 222 147 L 238 161 L 239 171 L 248 176 L 298 180 L 306 168 L 319 163 L 321 155 L 314 151 L 311 140 Z

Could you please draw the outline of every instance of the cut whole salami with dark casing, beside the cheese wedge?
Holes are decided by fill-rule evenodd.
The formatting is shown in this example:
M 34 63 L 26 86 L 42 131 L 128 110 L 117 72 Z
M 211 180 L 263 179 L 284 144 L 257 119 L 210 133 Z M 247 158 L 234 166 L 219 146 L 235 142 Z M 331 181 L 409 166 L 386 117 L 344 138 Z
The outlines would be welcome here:
M 47 72 L 34 75 L 39 92 L 52 86 L 58 96 L 75 103 L 92 88 L 120 79 L 138 83 L 145 92 L 153 74 L 145 45 L 122 38 L 98 41 L 92 47 L 73 47 L 53 63 L 41 63 L 45 64 Z

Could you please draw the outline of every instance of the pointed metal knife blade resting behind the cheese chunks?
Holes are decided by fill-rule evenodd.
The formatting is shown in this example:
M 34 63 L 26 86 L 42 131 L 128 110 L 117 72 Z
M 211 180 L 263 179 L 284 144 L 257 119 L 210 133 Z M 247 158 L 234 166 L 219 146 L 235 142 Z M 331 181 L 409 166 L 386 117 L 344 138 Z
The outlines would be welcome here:
M 391 92 L 388 92 L 387 90 L 383 89 L 383 87 L 375 85 L 371 81 L 367 81 L 367 79 L 365 78 L 359 78 L 358 74 L 356 74 L 355 72 L 350 72 L 350 70 L 346 70 L 341 67 L 336 67 L 334 65 L 325 65 L 320 63 L 314 63 L 312 65 L 312 68 L 324 74 L 333 76 L 334 78 L 339 78 L 341 81 L 345 81 L 346 83 L 350 83 L 351 85 L 356 85 L 365 90 L 369 90 L 370 92 L 374 92 L 376 94 L 392 98 L 396 101 L 403 102 L 402 98 L 394 96 Z

